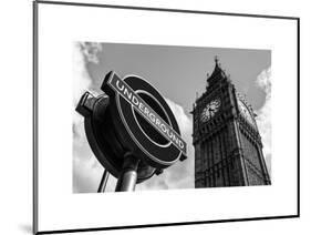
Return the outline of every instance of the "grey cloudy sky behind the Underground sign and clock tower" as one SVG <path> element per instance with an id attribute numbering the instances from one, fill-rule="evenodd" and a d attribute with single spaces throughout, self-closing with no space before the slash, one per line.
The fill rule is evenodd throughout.
<path id="1" fill-rule="evenodd" d="M 215 55 L 258 114 L 257 124 L 270 172 L 271 51 L 76 42 L 73 45 L 73 192 L 96 192 L 103 174 L 103 167 L 86 141 L 83 117 L 74 108 L 84 91 L 102 93 L 100 86 L 111 70 L 122 78 L 136 74 L 149 81 L 165 96 L 188 146 L 186 161 L 137 184 L 136 191 L 194 188 L 193 117 L 189 112 L 196 96 L 205 91 L 207 73 L 211 74 L 215 67 Z M 107 192 L 114 191 L 115 183 L 116 180 L 110 176 Z"/>

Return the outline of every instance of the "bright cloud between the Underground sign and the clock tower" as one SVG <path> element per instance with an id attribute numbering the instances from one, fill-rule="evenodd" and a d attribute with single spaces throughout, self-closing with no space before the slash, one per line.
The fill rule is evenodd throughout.
<path id="1" fill-rule="evenodd" d="M 176 162 L 173 166 L 164 170 L 160 175 L 154 175 L 151 180 L 138 184 L 136 190 L 168 190 L 168 188 L 194 188 L 194 147 L 191 140 L 193 121 L 186 114 L 182 105 L 166 99 L 167 104 L 173 111 L 178 126 L 180 129 L 182 137 L 187 143 L 187 156 L 184 162 Z"/>

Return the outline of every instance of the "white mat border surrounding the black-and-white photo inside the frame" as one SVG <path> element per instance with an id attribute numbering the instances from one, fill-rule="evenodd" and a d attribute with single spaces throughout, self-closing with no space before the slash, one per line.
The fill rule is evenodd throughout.
<path id="1" fill-rule="evenodd" d="M 297 21 L 42 3 L 38 20 L 39 232 L 297 214 Z M 72 194 L 73 41 L 272 50 L 272 185 Z"/>

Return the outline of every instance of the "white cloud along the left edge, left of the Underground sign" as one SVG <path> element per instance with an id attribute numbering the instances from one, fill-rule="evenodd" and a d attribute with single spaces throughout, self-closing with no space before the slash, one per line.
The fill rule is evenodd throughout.
<path id="1" fill-rule="evenodd" d="M 94 156 L 86 141 L 83 116 L 75 112 L 81 95 L 92 85 L 86 70 L 86 63 L 96 63 L 97 52 L 102 50 L 97 43 L 80 43 L 73 45 L 73 192 L 96 192 L 103 173 L 103 167 Z"/>

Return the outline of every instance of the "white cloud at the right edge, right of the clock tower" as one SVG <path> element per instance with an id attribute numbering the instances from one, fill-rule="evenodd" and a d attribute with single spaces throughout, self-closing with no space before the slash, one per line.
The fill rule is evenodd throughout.
<path id="1" fill-rule="evenodd" d="M 257 111 L 257 125 L 263 144 L 263 155 L 269 174 L 271 175 L 271 68 L 263 70 L 256 84 L 266 93 L 263 105 Z"/>

